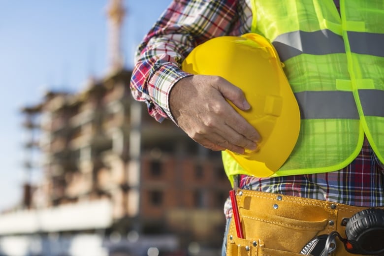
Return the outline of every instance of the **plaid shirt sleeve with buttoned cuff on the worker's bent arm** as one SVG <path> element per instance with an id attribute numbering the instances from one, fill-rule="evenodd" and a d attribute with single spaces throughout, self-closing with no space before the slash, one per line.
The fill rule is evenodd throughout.
<path id="1" fill-rule="evenodd" d="M 157 121 L 173 117 L 170 91 L 180 79 L 184 58 L 198 44 L 233 29 L 235 0 L 174 0 L 144 37 L 135 55 L 130 89 L 135 100 L 145 101 Z M 173 120 L 174 121 L 174 120 Z"/>

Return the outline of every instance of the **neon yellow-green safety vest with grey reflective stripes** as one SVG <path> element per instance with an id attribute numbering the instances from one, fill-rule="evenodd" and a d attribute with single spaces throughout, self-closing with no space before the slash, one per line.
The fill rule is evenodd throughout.
<path id="1" fill-rule="evenodd" d="M 253 0 L 252 32 L 270 39 L 300 106 L 298 141 L 273 176 L 335 171 L 364 134 L 384 162 L 384 1 Z M 278 152 L 278 149 L 277 149 Z M 223 152 L 224 169 L 247 174 Z"/>

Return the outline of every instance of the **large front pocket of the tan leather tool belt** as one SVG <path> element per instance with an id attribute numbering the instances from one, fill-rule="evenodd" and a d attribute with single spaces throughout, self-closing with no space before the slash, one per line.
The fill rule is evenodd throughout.
<path id="1" fill-rule="evenodd" d="M 292 210 L 294 211 L 294 210 Z M 227 256 L 293 256 L 313 237 L 326 230 L 328 220 L 312 221 L 310 216 L 278 216 L 239 209 L 243 235 L 237 237 L 232 220 L 227 236 Z M 309 217 L 309 218 L 307 218 Z"/>

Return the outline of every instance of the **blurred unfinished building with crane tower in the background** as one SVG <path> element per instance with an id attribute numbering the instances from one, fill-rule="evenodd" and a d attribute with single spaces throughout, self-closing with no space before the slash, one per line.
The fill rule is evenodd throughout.
<path id="1" fill-rule="evenodd" d="M 108 74 L 22 109 L 25 150 L 38 152 L 26 154 L 26 173 L 37 160 L 42 178 L 26 175 L 20 207 L 0 215 L 0 255 L 220 255 L 230 188 L 221 154 L 133 100 L 122 2 L 108 13 Z"/>

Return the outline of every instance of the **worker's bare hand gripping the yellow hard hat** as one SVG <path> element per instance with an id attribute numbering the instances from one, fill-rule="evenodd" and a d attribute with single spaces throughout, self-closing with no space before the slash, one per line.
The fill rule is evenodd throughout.
<path id="1" fill-rule="evenodd" d="M 224 78 L 194 75 L 174 85 L 169 104 L 178 126 L 202 146 L 239 154 L 256 150 L 260 135 L 225 99 L 250 108 L 244 93 Z"/>

